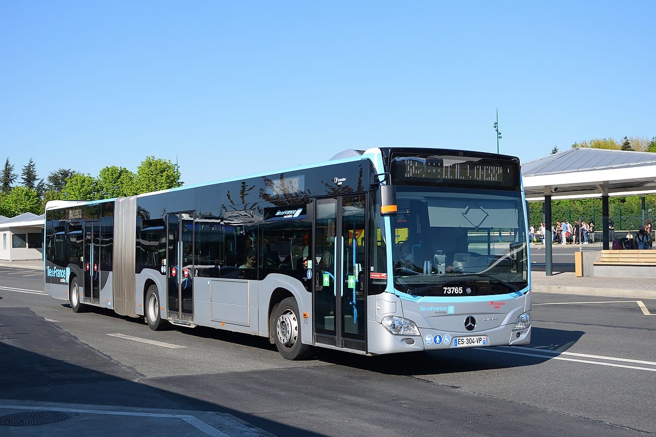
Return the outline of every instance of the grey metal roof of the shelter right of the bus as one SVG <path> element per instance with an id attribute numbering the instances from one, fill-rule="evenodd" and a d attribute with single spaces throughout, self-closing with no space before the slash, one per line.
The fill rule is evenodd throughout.
<path id="1" fill-rule="evenodd" d="M 529 201 L 656 193 L 656 154 L 573 148 L 522 165 Z"/>

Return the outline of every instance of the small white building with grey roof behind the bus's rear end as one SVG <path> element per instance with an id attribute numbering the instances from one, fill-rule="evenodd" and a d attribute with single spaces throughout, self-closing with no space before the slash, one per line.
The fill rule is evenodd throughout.
<path id="1" fill-rule="evenodd" d="M 0 216 L 0 260 L 43 259 L 44 215 Z"/>

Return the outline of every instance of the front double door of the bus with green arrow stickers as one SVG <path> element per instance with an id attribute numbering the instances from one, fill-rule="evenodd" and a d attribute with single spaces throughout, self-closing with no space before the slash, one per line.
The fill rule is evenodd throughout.
<path id="1" fill-rule="evenodd" d="M 366 350 L 366 196 L 315 201 L 314 341 Z"/>

